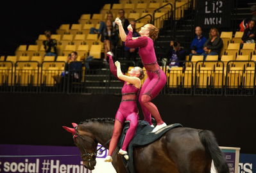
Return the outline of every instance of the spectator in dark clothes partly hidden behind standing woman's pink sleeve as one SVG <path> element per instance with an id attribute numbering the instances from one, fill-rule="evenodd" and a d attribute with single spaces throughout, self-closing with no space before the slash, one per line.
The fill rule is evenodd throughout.
<path id="1" fill-rule="evenodd" d="M 132 21 L 131 22 L 131 26 L 132 26 L 132 29 L 133 29 L 132 36 L 133 37 L 138 37 L 139 33 L 135 30 L 136 29 L 136 22 Z M 126 31 L 126 34 L 128 34 L 128 33 L 129 32 Z M 124 45 L 124 42 L 123 42 L 123 45 Z M 138 48 L 130 48 L 130 47 L 126 47 L 124 45 L 124 57 L 126 57 L 130 61 L 134 61 L 135 62 L 138 50 L 139 50 Z"/>

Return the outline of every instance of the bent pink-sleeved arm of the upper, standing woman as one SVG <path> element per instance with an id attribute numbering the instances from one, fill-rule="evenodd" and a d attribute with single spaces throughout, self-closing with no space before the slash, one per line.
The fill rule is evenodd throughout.
<path id="1" fill-rule="evenodd" d="M 146 36 L 140 36 L 137 39 L 133 40 L 132 31 L 129 31 L 125 40 L 126 47 L 137 48 L 137 47 L 145 47 L 146 45 L 148 45 L 148 38 Z"/>

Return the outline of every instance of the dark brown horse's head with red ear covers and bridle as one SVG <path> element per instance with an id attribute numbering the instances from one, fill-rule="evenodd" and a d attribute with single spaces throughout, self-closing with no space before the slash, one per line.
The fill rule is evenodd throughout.
<path id="1" fill-rule="evenodd" d="M 67 132 L 72 133 L 74 144 L 80 149 L 81 159 L 85 168 L 93 170 L 96 165 L 96 155 L 98 142 L 90 132 L 80 129 L 76 123 L 72 123 L 74 128 L 62 126 Z"/>

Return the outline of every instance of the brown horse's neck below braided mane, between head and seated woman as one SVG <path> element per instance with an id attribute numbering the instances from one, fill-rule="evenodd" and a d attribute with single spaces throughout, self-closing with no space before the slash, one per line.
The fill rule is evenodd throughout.
<path id="1" fill-rule="evenodd" d="M 110 140 L 112 137 L 114 124 L 97 122 L 97 123 L 92 123 L 87 128 L 90 130 L 92 135 L 94 135 L 94 137 L 99 142 L 99 144 L 108 148 L 109 146 L 108 140 Z"/>

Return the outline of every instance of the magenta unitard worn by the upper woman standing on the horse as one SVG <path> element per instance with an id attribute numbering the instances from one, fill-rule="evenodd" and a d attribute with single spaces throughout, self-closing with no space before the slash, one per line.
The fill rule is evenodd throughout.
<path id="1" fill-rule="evenodd" d="M 132 40 L 132 32 L 129 31 L 126 36 L 125 45 L 130 48 L 139 47 L 139 55 L 141 56 L 141 61 L 147 71 L 148 78 L 141 87 L 141 93 L 139 94 L 139 102 L 144 114 L 144 120 L 148 121 L 149 124 L 152 124 L 152 115 L 155 117 L 158 125 L 162 124 L 164 121 L 162 121 L 157 107 L 151 100 L 155 98 L 166 85 L 166 74 L 160 69 L 157 63 L 153 40 L 148 36 L 140 36 L 139 38 Z"/>

